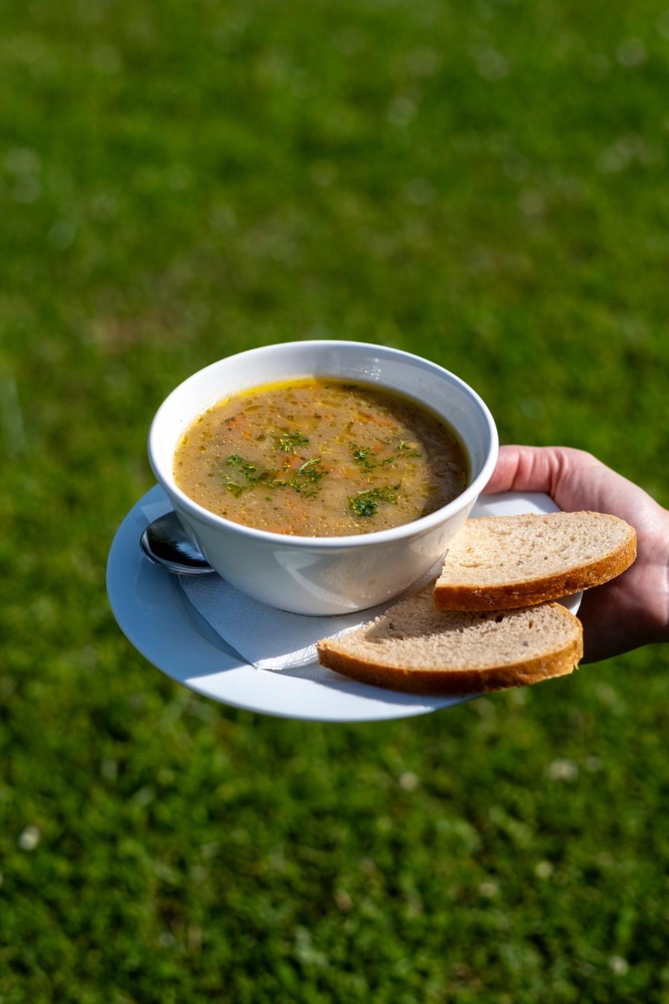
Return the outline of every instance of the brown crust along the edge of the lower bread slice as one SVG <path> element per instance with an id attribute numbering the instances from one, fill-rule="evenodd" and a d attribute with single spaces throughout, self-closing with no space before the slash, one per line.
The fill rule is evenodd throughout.
<path id="1" fill-rule="evenodd" d="M 569 612 L 569 611 L 566 611 Z M 466 694 L 487 694 L 537 684 L 552 677 L 566 676 L 578 668 L 583 658 L 581 621 L 570 614 L 578 625 L 577 635 L 564 649 L 510 666 L 491 666 L 478 670 L 401 670 L 357 659 L 344 652 L 337 642 L 318 642 L 318 661 L 337 673 L 361 683 L 402 691 L 405 694 L 430 694 L 451 697 Z"/>

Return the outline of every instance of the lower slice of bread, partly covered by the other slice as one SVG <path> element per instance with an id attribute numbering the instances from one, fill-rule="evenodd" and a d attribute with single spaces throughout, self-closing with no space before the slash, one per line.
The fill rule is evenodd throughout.
<path id="1" fill-rule="evenodd" d="M 318 642 L 318 660 L 354 680 L 410 694 L 480 694 L 571 673 L 581 621 L 560 603 L 521 610 L 435 610 L 430 584 L 383 616 Z"/>

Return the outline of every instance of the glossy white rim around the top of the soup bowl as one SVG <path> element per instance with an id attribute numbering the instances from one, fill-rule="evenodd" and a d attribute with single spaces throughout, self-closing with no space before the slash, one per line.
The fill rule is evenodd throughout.
<path id="1" fill-rule="evenodd" d="M 448 502 L 445 506 L 440 509 L 436 509 L 434 512 L 429 513 L 427 516 L 420 516 L 418 519 L 411 520 L 409 523 L 401 523 L 399 526 L 393 526 L 386 530 L 371 530 L 369 533 L 351 534 L 343 536 L 330 536 L 330 537 L 302 537 L 296 534 L 290 533 L 274 533 L 272 530 L 261 530 L 258 527 L 246 526 L 244 523 L 236 523 L 234 520 L 226 519 L 225 516 L 219 516 L 217 513 L 211 512 L 211 510 L 206 509 L 201 506 L 199 502 L 196 502 L 189 495 L 179 488 L 174 480 L 174 474 L 170 471 L 170 476 L 166 477 L 164 470 L 157 460 L 157 440 L 160 434 L 160 424 L 162 415 L 167 411 L 169 403 L 174 395 L 182 390 L 185 384 L 190 381 L 195 381 L 198 376 L 204 373 L 208 369 L 213 369 L 215 366 L 220 365 L 221 362 L 228 361 L 231 359 L 240 359 L 242 357 L 248 357 L 251 355 L 261 354 L 267 349 L 277 349 L 277 348 L 288 348 L 292 346 L 300 347 L 311 347 L 318 345 L 323 350 L 327 348 L 331 349 L 346 349 L 346 348 L 365 348 L 368 350 L 376 350 L 385 354 L 387 357 L 400 357 L 405 359 L 412 359 L 413 361 L 420 362 L 424 367 L 431 369 L 433 372 L 445 378 L 446 382 L 457 385 L 465 394 L 472 400 L 473 404 L 477 407 L 483 419 L 484 426 L 488 434 L 488 446 L 485 460 L 481 470 L 476 475 L 476 477 L 470 482 L 469 485 L 464 489 L 460 495 L 457 495 L 451 502 Z M 337 379 L 337 373 L 331 373 L 332 378 Z M 390 392 L 396 391 L 397 388 L 389 387 L 384 384 L 383 380 L 375 382 L 378 383 L 380 388 L 384 388 Z M 403 393 L 400 390 L 400 393 Z M 411 397 L 409 395 L 408 397 Z M 420 402 L 418 402 L 420 404 Z M 207 406 L 209 407 L 209 406 Z M 462 438 L 462 434 L 458 431 L 458 435 Z M 468 446 L 465 443 L 465 447 Z M 469 502 L 474 502 L 476 498 L 480 495 L 482 489 L 485 487 L 487 482 L 490 480 L 490 476 L 494 470 L 495 464 L 497 462 L 497 452 L 499 448 L 499 439 L 497 436 L 497 427 L 495 426 L 494 419 L 490 413 L 489 408 L 483 401 L 483 399 L 473 390 L 465 381 L 455 373 L 451 372 L 450 369 L 446 369 L 444 366 L 439 365 L 438 362 L 432 362 L 430 359 L 426 359 L 422 355 L 417 355 L 414 352 L 407 352 L 402 348 L 394 348 L 390 345 L 379 345 L 373 341 L 345 341 L 338 339 L 320 339 L 311 338 L 303 339 L 298 341 L 285 341 L 285 342 L 272 342 L 269 345 L 258 345 L 256 348 L 248 348 L 242 352 L 233 352 L 231 355 L 222 356 L 220 359 L 216 359 L 214 362 L 210 362 L 208 365 L 203 366 L 201 369 L 197 369 L 194 373 L 191 373 L 186 380 L 182 381 L 180 384 L 174 388 L 173 391 L 165 398 L 165 400 L 160 405 L 158 411 L 156 412 L 154 419 L 151 423 L 151 428 L 149 430 L 149 442 L 148 442 L 148 452 L 149 452 L 149 463 L 151 468 L 158 479 L 159 484 L 170 496 L 171 501 L 174 504 L 174 498 L 177 499 L 179 505 L 186 510 L 186 513 L 193 519 L 198 520 L 201 523 L 208 524 L 216 529 L 222 529 L 228 533 L 236 533 L 240 537 L 246 537 L 247 539 L 254 540 L 256 542 L 264 542 L 268 544 L 282 545 L 283 547 L 296 547 L 296 548 L 318 548 L 319 550 L 334 550 L 341 549 L 342 547 L 365 547 L 374 544 L 384 544 L 392 541 L 400 541 L 405 537 L 415 537 L 422 536 L 423 533 L 428 532 L 434 526 L 438 526 L 440 523 L 445 522 L 449 516 L 460 512 L 462 509 L 466 508 Z M 469 458 L 471 460 L 471 458 Z"/>

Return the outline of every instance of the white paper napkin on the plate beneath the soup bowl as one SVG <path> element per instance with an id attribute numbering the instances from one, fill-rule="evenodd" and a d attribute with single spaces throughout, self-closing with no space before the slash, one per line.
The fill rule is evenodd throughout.
<path id="1" fill-rule="evenodd" d="M 148 522 L 171 509 L 170 503 L 143 506 Z M 317 659 L 315 644 L 339 638 L 385 613 L 397 598 L 371 609 L 311 617 L 277 610 L 235 589 L 220 575 L 179 575 L 179 584 L 215 632 L 259 670 L 291 670 Z M 429 576 L 426 576 L 426 580 Z"/>

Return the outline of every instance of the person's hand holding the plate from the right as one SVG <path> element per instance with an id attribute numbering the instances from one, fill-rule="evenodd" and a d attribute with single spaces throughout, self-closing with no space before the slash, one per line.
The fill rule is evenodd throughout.
<path id="1" fill-rule="evenodd" d="M 583 450 L 503 446 L 485 493 L 546 492 L 567 512 L 620 516 L 637 531 L 637 560 L 584 593 L 584 662 L 669 642 L 669 511 Z"/>

